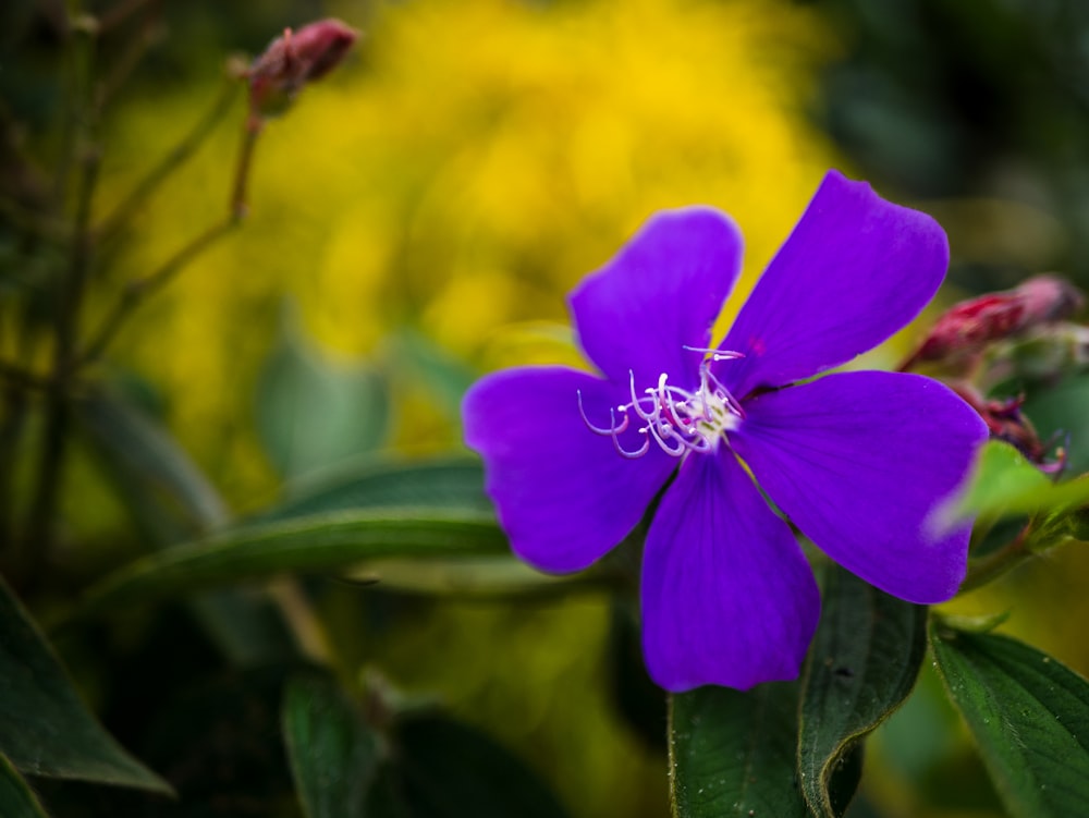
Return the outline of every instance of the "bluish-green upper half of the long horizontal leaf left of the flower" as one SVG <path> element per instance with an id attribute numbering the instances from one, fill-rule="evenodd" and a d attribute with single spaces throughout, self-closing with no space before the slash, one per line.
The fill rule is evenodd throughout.
<path id="1" fill-rule="evenodd" d="M 484 493 L 484 467 L 467 457 L 368 461 L 299 481 L 290 493 L 290 499 L 253 515 L 249 522 L 383 505 L 480 512 L 492 509 Z"/>

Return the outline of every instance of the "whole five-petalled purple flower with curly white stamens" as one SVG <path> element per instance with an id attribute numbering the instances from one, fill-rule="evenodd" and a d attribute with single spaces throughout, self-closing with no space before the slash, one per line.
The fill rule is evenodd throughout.
<path id="1" fill-rule="evenodd" d="M 798 674 L 820 598 L 761 490 L 830 558 L 902 599 L 946 600 L 966 569 L 970 526 L 938 532 L 929 516 L 986 439 L 979 416 L 916 375 L 807 380 L 919 313 L 945 274 L 945 233 L 831 171 L 708 350 L 741 253 L 721 212 L 658 213 L 571 295 L 600 377 L 510 369 L 463 407 L 500 523 L 543 571 L 598 560 L 665 489 L 644 551 L 643 645 L 671 691 Z"/>

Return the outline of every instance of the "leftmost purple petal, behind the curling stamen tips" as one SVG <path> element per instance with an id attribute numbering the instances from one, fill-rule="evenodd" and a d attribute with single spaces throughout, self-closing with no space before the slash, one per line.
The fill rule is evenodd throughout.
<path id="1" fill-rule="evenodd" d="M 658 447 L 621 456 L 611 437 L 587 428 L 578 408 L 608 426 L 627 399 L 608 382 L 563 367 L 509 369 L 465 396 L 465 442 L 485 462 L 485 490 L 515 553 L 544 571 L 586 567 L 619 544 L 676 467 Z M 629 451 L 644 438 L 628 430 Z"/>

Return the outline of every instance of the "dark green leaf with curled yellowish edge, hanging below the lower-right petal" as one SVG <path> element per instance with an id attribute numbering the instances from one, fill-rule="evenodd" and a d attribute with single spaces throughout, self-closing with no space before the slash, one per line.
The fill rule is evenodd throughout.
<path id="1" fill-rule="evenodd" d="M 833 774 L 843 765 L 860 765 L 860 740 L 907 698 L 926 647 L 923 606 L 895 599 L 836 565 L 829 567 L 802 686 L 798 738 L 802 791 L 816 815 L 843 815 L 853 786 L 841 781 L 833 798 Z"/>

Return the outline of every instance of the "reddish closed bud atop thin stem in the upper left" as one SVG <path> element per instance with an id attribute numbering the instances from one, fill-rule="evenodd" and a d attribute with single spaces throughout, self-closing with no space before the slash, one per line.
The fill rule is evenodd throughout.
<path id="1" fill-rule="evenodd" d="M 359 33 L 339 20 L 285 29 L 249 66 L 249 108 L 257 118 L 282 113 L 295 95 L 337 68 Z"/>

